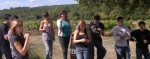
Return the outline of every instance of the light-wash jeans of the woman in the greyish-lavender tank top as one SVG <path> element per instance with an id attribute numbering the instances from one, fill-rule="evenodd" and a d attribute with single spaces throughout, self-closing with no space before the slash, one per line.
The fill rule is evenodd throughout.
<path id="1" fill-rule="evenodd" d="M 53 40 L 43 40 L 45 46 L 46 59 L 52 59 Z"/>

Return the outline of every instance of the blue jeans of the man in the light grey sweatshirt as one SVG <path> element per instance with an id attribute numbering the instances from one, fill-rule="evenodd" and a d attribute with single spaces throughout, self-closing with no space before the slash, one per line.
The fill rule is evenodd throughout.
<path id="1" fill-rule="evenodd" d="M 115 46 L 115 51 L 117 54 L 117 59 L 130 59 L 130 48 Z"/>

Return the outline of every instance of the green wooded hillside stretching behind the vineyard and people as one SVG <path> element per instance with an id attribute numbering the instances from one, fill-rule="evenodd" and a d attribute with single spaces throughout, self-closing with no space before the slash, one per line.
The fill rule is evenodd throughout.
<path id="1" fill-rule="evenodd" d="M 54 6 L 39 6 L 39 7 L 16 7 L 10 9 L 0 10 L 0 19 L 3 18 L 4 14 L 18 15 L 23 20 L 37 20 L 41 19 L 44 12 L 49 12 L 50 19 L 56 20 L 59 17 L 59 13 L 62 10 L 68 12 L 68 18 L 70 20 L 90 20 L 93 16 L 98 14 L 103 20 L 114 20 L 118 16 L 123 16 L 125 20 L 141 20 L 150 18 L 150 10 L 144 13 L 144 11 L 137 8 L 135 13 L 129 14 L 124 11 L 124 9 L 119 9 L 117 7 L 108 7 L 105 5 L 100 6 L 100 8 L 88 8 L 78 4 L 70 5 L 54 5 Z"/>

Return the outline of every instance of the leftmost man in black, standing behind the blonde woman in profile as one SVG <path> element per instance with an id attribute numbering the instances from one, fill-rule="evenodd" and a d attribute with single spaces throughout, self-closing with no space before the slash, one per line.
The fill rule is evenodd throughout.
<path id="1" fill-rule="evenodd" d="M 0 28 L 0 49 L 2 53 L 5 55 L 6 59 L 12 59 L 10 43 L 8 41 L 8 35 L 7 35 L 10 26 L 10 21 L 9 21 L 10 17 L 11 17 L 10 14 L 4 15 L 4 22 Z"/>

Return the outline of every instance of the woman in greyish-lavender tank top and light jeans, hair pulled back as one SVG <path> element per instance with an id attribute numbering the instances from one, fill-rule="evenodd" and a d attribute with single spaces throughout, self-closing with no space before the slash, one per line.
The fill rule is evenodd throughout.
<path id="1" fill-rule="evenodd" d="M 49 19 L 48 12 L 43 15 L 44 20 L 41 21 L 39 30 L 42 31 L 42 39 L 45 46 L 46 59 L 52 59 L 53 41 L 55 33 L 53 22 Z"/>

